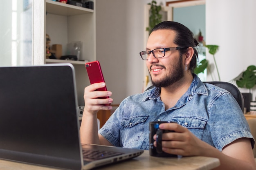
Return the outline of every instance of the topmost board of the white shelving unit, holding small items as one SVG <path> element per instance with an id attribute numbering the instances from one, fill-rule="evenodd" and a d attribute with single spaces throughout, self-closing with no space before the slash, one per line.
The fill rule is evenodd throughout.
<path id="1" fill-rule="evenodd" d="M 46 12 L 56 15 L 72 16 L 80 15 L 85 13 L 93 13 L 93 9 L 77 7 L 71 4 L 64 4 L 61 2 L 56 2 L 52 0 L 45 0 L 46 2 Z"/>

